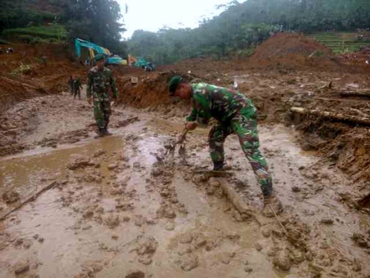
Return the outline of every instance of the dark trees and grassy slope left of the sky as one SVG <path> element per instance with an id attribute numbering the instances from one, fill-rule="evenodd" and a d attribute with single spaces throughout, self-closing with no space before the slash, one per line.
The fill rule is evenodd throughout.
<path id="1" fill-rule="evenodd" d="M 125 50 L 119 3 L 114 0 L 3 0 L 0 33 L 29 43 L 90 40 L 115 53 Z"/>

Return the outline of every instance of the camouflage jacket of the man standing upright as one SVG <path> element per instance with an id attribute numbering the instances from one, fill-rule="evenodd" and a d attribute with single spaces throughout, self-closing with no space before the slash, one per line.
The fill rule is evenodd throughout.
<path id="1" fill-rule="evenodd" d="M 87 97 L 93 95 L 95 101 L 110 101 L 109 89 L 112 89 L 113 97 L 118 97 L 116 82 L 112 78 L 112 71 L 107 67 L 98 69 L 93 67 L 88 71 Z"/>

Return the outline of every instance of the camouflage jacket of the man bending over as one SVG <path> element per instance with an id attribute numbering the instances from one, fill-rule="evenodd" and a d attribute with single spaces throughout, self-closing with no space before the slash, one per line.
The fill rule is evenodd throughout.
<path id="1" fill-rule="evenodd" d="M 193 107 L 186 121 L 197 121 L 199 124 L 206 125 L 213 117 L 227 124 L 240 108 L 249 108 L 247 109 L 250 112 L 249 116 L 256 117 L 256 107 L 241 93 L 206 83 L 195 83 L 192 87 Z"/>

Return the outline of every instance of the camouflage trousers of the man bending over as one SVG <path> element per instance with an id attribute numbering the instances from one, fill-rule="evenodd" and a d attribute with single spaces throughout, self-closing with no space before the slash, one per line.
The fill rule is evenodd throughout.
<path id="1" fill-rule="evenodd" d="M 248 116 L 247 116 L 248 115 Z M 260 183 L 264 196 L 273 193 L 272 178 L 269 174 L 267 161 L 261 154 L 260 139 L 258 138 L 256 117 L 251 117 L 247 108 L 241 108 L 228 124 L 217 124 L 212 127 L 209 134 L 210 156 L 214 163 L 223 162 L 223 142 L 230 134 L 236 134 L 245 157 L 251 163 L 254 174 Z"/>

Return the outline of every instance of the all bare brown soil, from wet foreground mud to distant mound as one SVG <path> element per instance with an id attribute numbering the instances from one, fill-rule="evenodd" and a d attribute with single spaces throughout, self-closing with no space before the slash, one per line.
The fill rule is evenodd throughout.
<path id="1" fill-rule="evenodd" d="M 299 58 L 314 51 L 328 58 Z M 330 51 L 296 34 L 277 34 L 250 60 L 186 60 L 155 73 L 112 67 L 120 92 L 113 136 L 93 139 L 84 90 L 82 100 L 66 92 L 69 75 L 87 68 L 64 54 L 36 65 L 18 51 L 1 71 L 43 89 L 1 87 L 10 98 L 0 116 L 0 217 L 14 210 L 0 222 L 1 277 L 370 277 L 369 126 L 291 112 L 366 118 L 369 99 L 345 93 L 369 91 L 367 68 L 349 62 L 333 71 Z M 34 68 L 9 76 L 20 62 Z M 163 160 L 189 110 L 168 97 L 175 73 L 236 81 L 256 104 L 261 150 L 284 205 L 278 218 L 261 215 L 261 191 L 236 137 L 225 142 L 230 174 L 222 178 L 204 172 L 206 129 Z M 232 205 L 223 182 L 251 216 Z"/>

